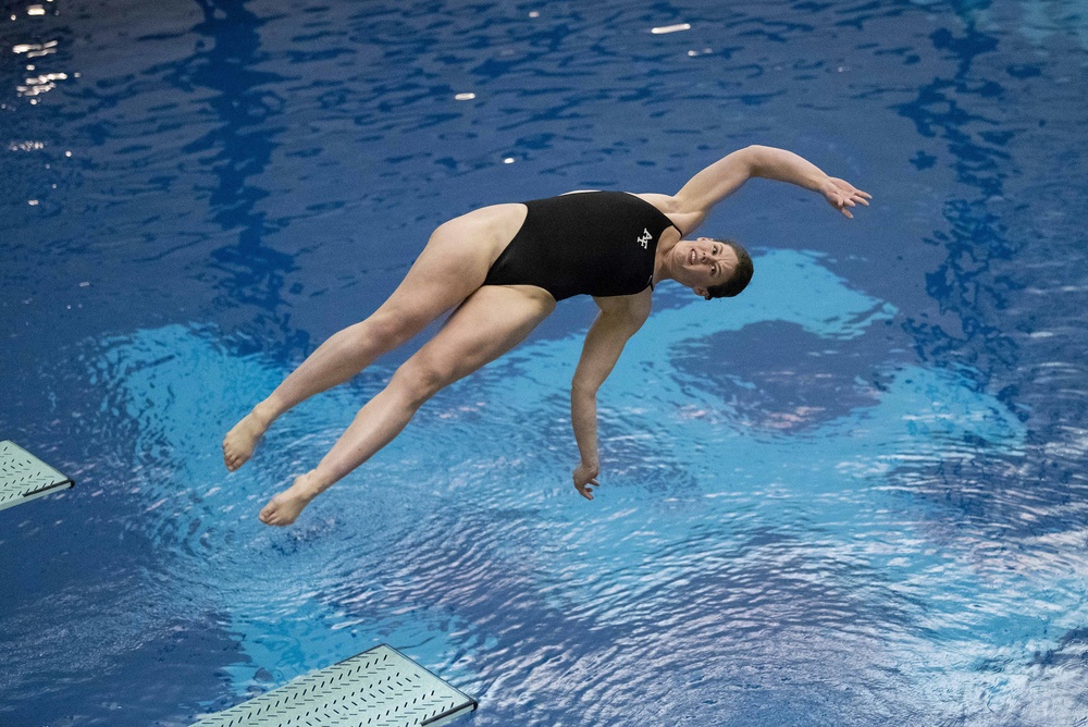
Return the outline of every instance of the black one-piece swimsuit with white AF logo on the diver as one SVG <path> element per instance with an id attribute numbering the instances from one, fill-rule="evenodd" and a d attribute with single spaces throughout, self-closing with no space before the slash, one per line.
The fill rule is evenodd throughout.
<path id="1" fill-rule="evenodd" d="M 521 230 L 484 285 L 536 285 L 556 300 L 639 293 L 653 282 L 657 241 L 676 227 L 656 207 L 626 192 L 580 192 L 526 207 Z"/>

